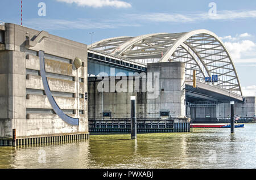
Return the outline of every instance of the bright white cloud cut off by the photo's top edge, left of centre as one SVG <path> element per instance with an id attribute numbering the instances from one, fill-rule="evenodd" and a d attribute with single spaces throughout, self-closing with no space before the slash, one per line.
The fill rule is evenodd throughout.
<path id="1" fill-rule="evenodd" d="M 128 8 L 131 7 L 130 3 L 119 0 L 56 0 L 59 2 L 76 3 L 78 6 L 89 6 L 89 7 L 104 7 L 111 6 L 117 8 Z"/>

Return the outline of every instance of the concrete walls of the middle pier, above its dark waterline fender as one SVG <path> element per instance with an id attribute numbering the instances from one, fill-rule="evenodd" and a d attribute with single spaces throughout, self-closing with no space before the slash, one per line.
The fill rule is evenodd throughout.
<path id="1" fill-rule="evenodd" d="M 117 85 L 119 82 L 110 80 L 109 92 L 103 93 L 104 112 L 111 112 L 111 118 L 130 118 L 130 96 L 136 96 L 137 117 L 160 118 L 161 111 L 169 112 L 171 117 L 185 117 L 184 63 L 150 63 L 148 72 L 158 76 L 155 77 L 158 82 L 155 78 L 150 80 L 147 77 L 147 83 L 152 84 L 153 88 L 157 87 L 154 93 L 142 92 L 143 85 L 140 85 L 139 92 L 135 92 L 135 79 L 132 84 L 128 80 L 123 84 L 126 92 L 110 92 L 110 84 Z M 95 79 L 88 82 L 88 113 L 90 119 L 102 119 L 102 93 L 97 89 L 100 81 Z M 144 84 L 143 82 L 141 79 L 140 84 Z M 156 95 L 155 98 L 152 98 L 153 94 Z"/>

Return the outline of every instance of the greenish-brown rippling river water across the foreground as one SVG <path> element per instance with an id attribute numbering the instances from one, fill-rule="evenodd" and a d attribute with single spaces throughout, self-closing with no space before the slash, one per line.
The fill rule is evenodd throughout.
<path id="1" fill-rule="evenodd" d="M 0 147 L 0 168 L 256 168 L 256 123 L 193 131 Z"/>

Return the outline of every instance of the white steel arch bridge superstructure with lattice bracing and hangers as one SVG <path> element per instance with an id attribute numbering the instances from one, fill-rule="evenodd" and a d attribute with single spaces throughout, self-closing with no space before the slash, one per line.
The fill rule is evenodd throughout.
<path id="1" fill-rule="evenodd" d="M 220 38 L 205 29 L 183 33 L 154 33 L 138 37 L 114 37 L 95 42 L 89 50 L 100 50 L 144 63 L 184 62 L 185 76 L 197 80 L 218 75 L 217 87 L 242 96 L 236 68 Z"/>

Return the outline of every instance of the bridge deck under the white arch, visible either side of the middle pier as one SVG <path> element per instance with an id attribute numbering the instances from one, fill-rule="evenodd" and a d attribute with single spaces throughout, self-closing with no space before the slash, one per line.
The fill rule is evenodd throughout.
<path id="1" fill-rule="evenodd" d="M 97 50 L 88 50 L 88 62 L 99 62 L 105 64 L 105 66 L 113 66 L 120 68 L 120 71 L 127 72 L 146 72 L 147 65 L 141 62 L 137 62 L 135 60 L 115 56 L 113 54 L 108 54 L 106 52 L 99 52 Z M 95 70 L 97 72 L 94 75 L 98 75 L 98 71 L 101 71 L 101 68 Z M 110 68 L 107 73 L 110 72 Z M 116 71 L 116 73 L 119 71 Z M 110 75 L 110 74 L 109 74 Z M 192 88 L 192 80 L 186 78 L 186 96 L 192 97 L 194 99 L 205 99 L 210 101 L 221 101 L 221 102 L 229 102 L 229 101 L 243 101 L 243 97 L 233 93 L 232 91 L 228 91 L 228 89 L 223 89 L 217 87 L 217 85 L 205 83 L 205 82 L 197 82 L 197 88 Z M 189 88 L 188 88 L 189 87 Z"/>

